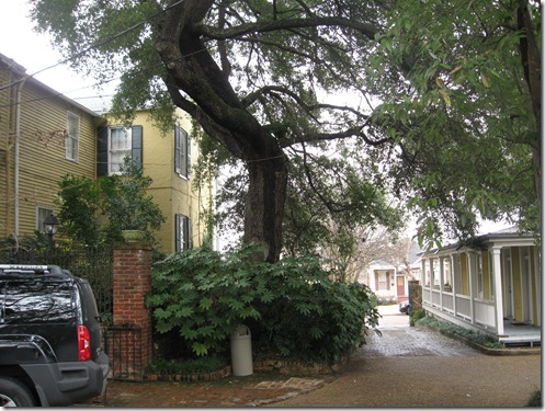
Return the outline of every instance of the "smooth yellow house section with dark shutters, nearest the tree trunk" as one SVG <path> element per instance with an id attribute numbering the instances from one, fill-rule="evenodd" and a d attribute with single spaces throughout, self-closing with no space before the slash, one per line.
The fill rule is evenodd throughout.
<path id="1" fill-rule="evenodd" d="M 192 163 L 198 149 L 191 137 L 191 121 L 177 112 L 178 124 L 163 135 L 149 114 L 138 111 L 130 126 L 109 118 L 107 125 L 99 129 L 98 176 L 118 172 L 127 156 L 137 160 L 154 180 L 148 192 L 166 217 L 155 233 L 160 251 L 170 253 L 201 246 L 206 233 L 204 216 L 213 206 L 214 181 L 193 186 Z"/>

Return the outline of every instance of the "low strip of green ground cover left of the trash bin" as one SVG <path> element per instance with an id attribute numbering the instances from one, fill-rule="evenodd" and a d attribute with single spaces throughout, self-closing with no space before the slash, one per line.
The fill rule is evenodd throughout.
<path id="1" fill-rule="evenodd" d="M 190 359 L 161 359 L 151 361 L 147 366 L 148 374 L 157 375 L 190 375 L 217 372 L 229 365 L 226 358 L 205 356 Z"/>

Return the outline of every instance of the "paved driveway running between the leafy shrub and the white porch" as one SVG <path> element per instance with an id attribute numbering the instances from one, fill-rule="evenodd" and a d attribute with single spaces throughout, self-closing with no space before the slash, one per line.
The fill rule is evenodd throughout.
<path id="1" fill-rule="evenodd" d="M 491 356 L 381 307 L 383 336 L 329 385 L 268 407 L 522 407 L 541 389 L 541 355 Z"/>

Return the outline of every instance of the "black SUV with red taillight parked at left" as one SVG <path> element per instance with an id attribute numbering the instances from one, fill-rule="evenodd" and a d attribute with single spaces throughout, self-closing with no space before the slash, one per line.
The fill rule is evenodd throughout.
<path id="1" fill-rule="evenodd" d="M 101 350 L 91 286 L 58 265 L 0 264 L 0 406 L 58 407 L 100 396 Z"/>

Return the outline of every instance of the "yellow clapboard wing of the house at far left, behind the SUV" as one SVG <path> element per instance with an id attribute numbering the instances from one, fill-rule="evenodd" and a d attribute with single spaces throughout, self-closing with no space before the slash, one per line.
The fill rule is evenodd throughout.
<path id="1" fill-rule="evenodd" d="M 43 232 L 61 176 L 94 178 L 104 121 L 0 54 L 0 236 Z"/>

